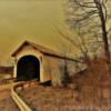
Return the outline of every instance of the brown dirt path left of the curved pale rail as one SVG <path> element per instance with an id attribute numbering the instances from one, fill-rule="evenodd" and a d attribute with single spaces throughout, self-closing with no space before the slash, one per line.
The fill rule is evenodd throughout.
<path id="1" fill-rule="evenodd" d="M 11 98 L 11 85 L 0 85 L 0 111 L 20 111 Z"/>

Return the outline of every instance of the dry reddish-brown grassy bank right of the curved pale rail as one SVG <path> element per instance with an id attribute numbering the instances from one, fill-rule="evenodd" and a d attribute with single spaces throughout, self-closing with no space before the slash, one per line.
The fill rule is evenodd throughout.
<path id="1" fill-rule="evenodd" d="M 36 111 L 111 111 L 111 77 L 103 60 L 93 60 L 73 79 L 73 89 L 36 85 L 20 95 Z"/>

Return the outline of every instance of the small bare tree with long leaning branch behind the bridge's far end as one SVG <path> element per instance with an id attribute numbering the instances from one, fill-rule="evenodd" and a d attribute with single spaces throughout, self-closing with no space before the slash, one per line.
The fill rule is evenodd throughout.
<path id="1" fill-rule="evenodd" d="M 57 29 L 59 34 L 62 36 L 63 39 L 67 39 L 71 44 L 73 44 L 78 50 L 80 50 L 80 52 L 83 56 L 83 62 L 89 65 L 90 63 L 89 53 L 95 52 L 101 46 L 101 42 L 94 42 L 94 46 L 93 44 L 91 46 L 87 43 L 88 39 L 83 38 L 81 33 L 78 33 L 78 40 L 77 40 L 75 37 L 74 38 L 72 38 L 72 36 L 70 37 L 68 33 L 62 32 L 58 27 L 54 26 L 54 28 Z"/>

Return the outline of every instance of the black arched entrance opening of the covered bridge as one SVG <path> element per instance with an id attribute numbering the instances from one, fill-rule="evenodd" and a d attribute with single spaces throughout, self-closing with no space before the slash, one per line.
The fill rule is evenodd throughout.
<path id="1" fill-rule="evenodd" d="M 17 80 L 40 80 L 40 61 L 34 56 L 24 56 L 18 61 Z"/>

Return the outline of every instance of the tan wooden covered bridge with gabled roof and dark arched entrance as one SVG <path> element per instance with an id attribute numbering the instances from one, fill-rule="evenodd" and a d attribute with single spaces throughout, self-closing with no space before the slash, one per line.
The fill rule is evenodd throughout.
<path id="1" fill-rule="evenodd" d="M 18 80 L 38 79 L 40 82 L 51 81 L 61 84 L 63 65 L 67 61 L 70 75 L 78 72 L 83 64 L 78 60 L 64 57 L 46 47 L 24 41 L 13 53 L 13 78 Z"/>

